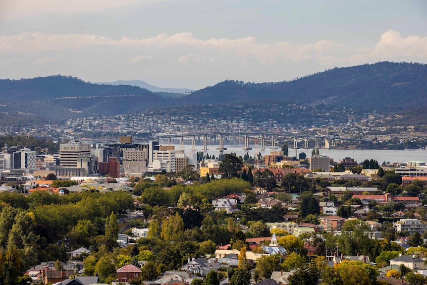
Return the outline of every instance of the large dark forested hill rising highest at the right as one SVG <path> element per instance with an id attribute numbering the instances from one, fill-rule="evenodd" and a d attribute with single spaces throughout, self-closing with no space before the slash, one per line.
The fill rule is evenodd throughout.
<path id="1" fill-rule="evenodd" d="M 405 110 L 427 103 L 427 64 L 378 62 L 277 83 L 224 81 L 193 92 L 193 104 L 276 99 L 296 104 L 354 108 L 361 112 Z"/>

